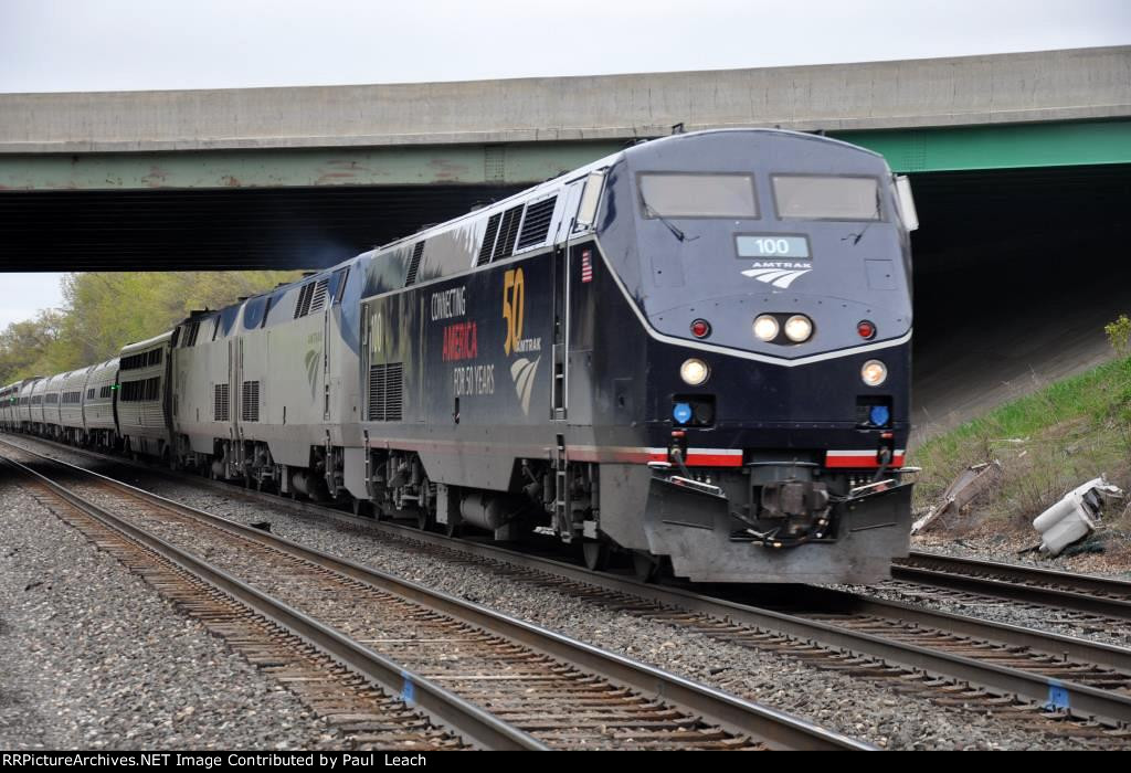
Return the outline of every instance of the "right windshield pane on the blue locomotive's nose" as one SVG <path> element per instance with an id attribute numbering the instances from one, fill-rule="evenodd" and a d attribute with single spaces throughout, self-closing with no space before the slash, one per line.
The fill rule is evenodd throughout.
<path id="1" fill-rule="evenodd" d="M 875 177 L 775 174 L 778 217 L 797 220 L 879 220 L 880 183 Z"/>

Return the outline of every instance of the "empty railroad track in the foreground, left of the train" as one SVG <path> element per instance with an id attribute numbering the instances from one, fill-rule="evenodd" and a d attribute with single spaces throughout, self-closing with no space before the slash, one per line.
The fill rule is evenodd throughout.
<path id="1" fill-rule="evenodd" d="M 8 463 L 37 476 L 34 485 L 50 488 L 69 511 L 97 521 L 93 538 L 115 555 L 129 555 L 128 565 L 140 567 L 138 556 L 148 550 L 214 585 L 208 601 L 184 606 L 207 616 L 211 605 L 234 596 L 270 620 L 273 641 L 291 636 L 308 655 L 313 645 L 318 657 L 345 667 L 339 676 L 362 692 L 377 692 L 368 683 L 379 685 L 386 707 L 395 705 L 398 718 L 412 716 L 414 728 L 429 728 L 441 747 L 871 748 L 478 605 L 10 449 Z M 40 471 L 11 457 L 33 458 Z M 78 520 L 72 512 L 67 518 Z M 158 589 L 169 587 L 156 570 L 138 571 L 156 576 Z M 254 577 L 253 585 L 238 574 Z M 248 613 L 225 610 L 217 631 L 240 614 Z M 250 628 L 231 632 L 230 641 L 247 644 L 254 662 L 304 678 Z M 389 704 L 389 695 L 400 701 Z M 346 721 L 385 721 L 377 706 L 363 712 L 338 705 L 334 712 L 345 712 Z"/>

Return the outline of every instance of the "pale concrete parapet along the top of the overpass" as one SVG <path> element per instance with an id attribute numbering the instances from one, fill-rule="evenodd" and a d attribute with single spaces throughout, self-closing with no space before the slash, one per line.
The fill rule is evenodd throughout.
<path id="1" fill-rule="evenodd" d="M 624 141 L 1131 115 L 1131 46 L 701 72 L 0 95 L 0 154 Z"/>

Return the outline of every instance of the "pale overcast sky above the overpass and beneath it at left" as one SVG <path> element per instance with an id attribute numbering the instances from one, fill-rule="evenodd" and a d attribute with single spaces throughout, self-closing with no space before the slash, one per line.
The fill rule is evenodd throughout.
<path id="1" fill-rule="evenodd" d="M 826 64 L 1131 43 L 1131 0 L 0 0 L 0 93 Z M 59 275 L 0 275 L 0 327 Z"/>

